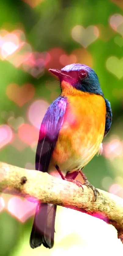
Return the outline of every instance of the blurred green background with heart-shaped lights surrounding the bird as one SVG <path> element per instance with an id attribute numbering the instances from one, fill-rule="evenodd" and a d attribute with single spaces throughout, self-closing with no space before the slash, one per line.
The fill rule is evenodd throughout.
<path id="1" fill-rule="evenodd" d="M 60 93 L 48 69 L 84 63 L 113 111 L 103 154 L 84 172 L 97 188 L 123 197 L 123 2 L 0 1 L 0 14 L 0 161 L 34 169 L 39 126 Z M 29 247 L 34 207 L 13 198 L 1 195 L 0 256 L 38 255 L 42 247 Z"/>

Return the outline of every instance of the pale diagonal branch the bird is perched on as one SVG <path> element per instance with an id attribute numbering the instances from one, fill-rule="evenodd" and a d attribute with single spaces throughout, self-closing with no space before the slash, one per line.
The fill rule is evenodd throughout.
<path id="1" fill-rule="evenodd" d="M 33 201 L 53 203 L 96 216 L 112 224 L 123 242 L 123 199 L 99 190 L 94 202 L 90 188 L 64 181 L 36 170 L 27 170 L 0 162 L 0 192 L 19 195 Z"/>

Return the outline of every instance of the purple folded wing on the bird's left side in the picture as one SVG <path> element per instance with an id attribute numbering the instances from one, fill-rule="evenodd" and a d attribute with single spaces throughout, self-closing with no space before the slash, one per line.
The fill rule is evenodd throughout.
<path id="1" fill-rule="evenodd" d="M 63 117 L 66 110 L 67 98 L 59 96 L 49 106 L 42 120 L 39 140 L 36 150 L 36 170 L 47 172 L 52 152 L 56 146 Z"/>

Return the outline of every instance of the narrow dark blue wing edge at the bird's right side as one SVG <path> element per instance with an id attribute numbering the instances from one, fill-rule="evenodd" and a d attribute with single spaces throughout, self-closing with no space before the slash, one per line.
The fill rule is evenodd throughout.
<path id="1" fill-rule="evenodd" d="M 104 99 L 106 103 L 106 124 L 105 124 L 105 132 L 104 137 L 107 135 L 107 133 L 110 130 L 111 123 L 112 123 L 112 110 L 110 106 L 110 102 L 107 99 Z"/>

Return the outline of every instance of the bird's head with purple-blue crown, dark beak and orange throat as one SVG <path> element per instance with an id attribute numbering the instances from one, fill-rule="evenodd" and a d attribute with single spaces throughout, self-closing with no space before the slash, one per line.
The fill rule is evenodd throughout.
<path id="1" fill-rule="evenodd" d="M 61 82 L 61 90 L 70 92 L 81 91 L 103 96 L 98 76 L 95 71 L 85 64 L 70 64 L 59 69 L 49 69 Z M 75 93 L 77 93 L 77 91 Z"/>

